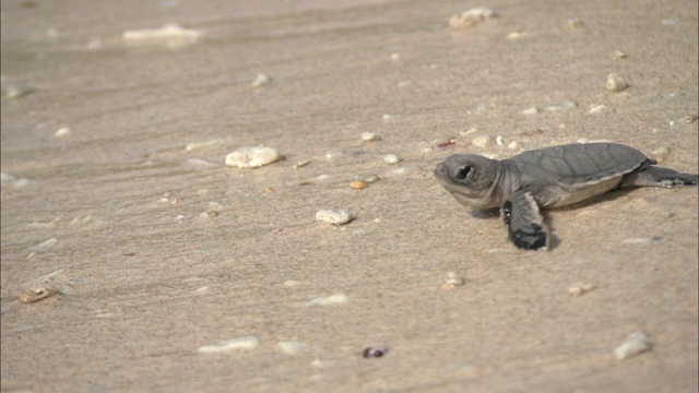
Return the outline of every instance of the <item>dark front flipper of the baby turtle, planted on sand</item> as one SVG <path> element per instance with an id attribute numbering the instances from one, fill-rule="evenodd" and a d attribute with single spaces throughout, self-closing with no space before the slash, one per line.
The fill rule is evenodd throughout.
<path id="1" fill-rule="evenodd" d="M 525 250 L 536 250 L 548 245 L 548 227 L 544 224 L 532 191 L 523 189 L 512 193 L 500 210 L 510 240 Z"/>

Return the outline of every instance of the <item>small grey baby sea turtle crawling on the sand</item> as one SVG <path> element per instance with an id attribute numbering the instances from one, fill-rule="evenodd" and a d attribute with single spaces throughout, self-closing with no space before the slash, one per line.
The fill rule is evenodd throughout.
<path id="1" fill-rule="evenodd" d="M 697 186 L 699 176 L 653 167 L 656 160 L 616 143 L 568 144 L 490 159 L 454 154 L 435 168 L 437 181 L 461 204 L 500 207 L 510 240 L 535 250 L 548 245 L 540 209 L 556 209 L 621 186 Z"/>

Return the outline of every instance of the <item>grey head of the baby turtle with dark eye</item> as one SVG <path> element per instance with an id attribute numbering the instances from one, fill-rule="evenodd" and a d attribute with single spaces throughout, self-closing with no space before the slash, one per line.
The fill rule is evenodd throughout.
<path id="1" fill-rule="evenodd" d="M 435 177 L 461 204 L 476 210 L 499 207 L 499 163 L 476 154 L 454 154 L 437 164 Z"/>

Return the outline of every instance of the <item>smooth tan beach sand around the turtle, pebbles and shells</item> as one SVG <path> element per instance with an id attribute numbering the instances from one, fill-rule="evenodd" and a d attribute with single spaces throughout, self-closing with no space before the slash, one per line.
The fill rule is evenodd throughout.
<path id="1" fill-rule="evenodd" d="M 498 17 L 448 27 L 484 5 Z M 497 214 L 472 214 L 431 174 L 459 152 L 580 139 L 696 172 L 697 121 L 684 121 L 698 111 L 696 2 L 1 11 L 3 88 L 34 88 L 1 103 L 2 172 L 27 179 L 2 184 L 3 392 L 696 390 L 696 188 L 550 212 L 553 249 L 525 252 Z M 167 23 L 203 35 L 174 47 L 121 38 Z M 630 86 L 607 92 L 613 72 Z M 260 73 L 271 82 L 252 87 Z M 567 102 L 577 107 L 544 110 Z M 531 107 L 541 111 L 522 114 Z M 70 134 L 54 136 L 61 127 Z M 381 141 L 363 142 L 366 131 Z M 471 145 L 478 135 L 520 147 Z M 258 144 L 285 159 L 224 166 Z M 389 153 L 402 162 L 387 165 Z M 380 180 L 348 188 L 366 172 Z M 355 219 L 316 222 L 340 207 Z M 19 301 L 61 270 L 62 295 Z M 445 289 L 449 272 L 465 284 Z M 595 288 L 572 297 L 576 283 Z M 346 302 L 308 305 L 335 294 Z M 617 360 L 639 330 L 652 349 Z M 250 335 L 254 348 L 198 350 Z M 298 353 L 280 350 L 288 341 Z M 370 346 L 389 352 L 364 358 Z"/>

